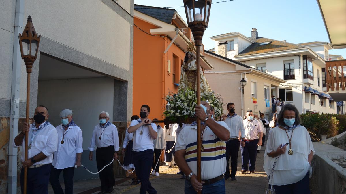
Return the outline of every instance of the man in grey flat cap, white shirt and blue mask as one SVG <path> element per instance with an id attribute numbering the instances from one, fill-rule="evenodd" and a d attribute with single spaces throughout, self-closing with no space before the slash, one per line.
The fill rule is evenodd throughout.
<path id="1" fill-rule="evenodd" d="M 81 128 L 72 120 L 72 110 L 64 109 L 59 116 L 61 125 L 56 127 L 58 145 L 57 151 L 54 152 L 49 182 L 55 194 L 72 194 L 74 165 L 81 165 L 83 135 Z M 59 182 L 61 171 L 64 173 L 65 192 Z"/>

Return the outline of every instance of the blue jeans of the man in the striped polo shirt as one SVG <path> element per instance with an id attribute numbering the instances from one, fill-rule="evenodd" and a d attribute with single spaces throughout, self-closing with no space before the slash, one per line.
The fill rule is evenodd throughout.
<path id="1" fill-rule="evenodd" d="M 191 182 L 185 179 L 185 194 L 195 194 L 197 193 Z M 203 185 L 202 188 L 202 194 L 221 194 L 226 193 L 226 187 L 225 187 L 225 179 L 222 179 L 216 183 L 209 184 L 209 185 Z"/>

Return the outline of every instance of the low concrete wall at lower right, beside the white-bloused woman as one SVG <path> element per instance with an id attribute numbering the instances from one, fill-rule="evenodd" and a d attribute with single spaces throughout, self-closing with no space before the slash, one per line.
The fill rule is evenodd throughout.
<path id="1" fill-rule="evenodd" d="M 319 142 L 313 142 L 313 147 L 316 154 L 311 163 L 311 194 L 345 194 L 346 168 L 337 163 L 346 165 L 346 151 Z"/>

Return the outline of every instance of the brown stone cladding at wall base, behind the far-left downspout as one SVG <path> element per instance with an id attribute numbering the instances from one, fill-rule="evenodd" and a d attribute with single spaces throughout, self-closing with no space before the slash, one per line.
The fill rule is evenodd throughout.
<path id="1" fill-rule="evenodd" d="M 8 152 L 9 146 L 12 146 L 12 142 L 9 142 L 10 138 L 10 117 L 0 117 L 1 125 L 0 125 L 0 193 L 6 191 L 8 192 Z M 21 128 L 23 123 L 25 122 L 25 118 L 19 118 L 19 126 L 18 133 L 21 132 Z M 32 122 L 32 119 L 31 121 Z M 20 192 L 20 169 L 21 169 L 21 161 L 20 156 L 22 152 L 20 147 L 18 148 L 17 155 L 17 192 Z"/>

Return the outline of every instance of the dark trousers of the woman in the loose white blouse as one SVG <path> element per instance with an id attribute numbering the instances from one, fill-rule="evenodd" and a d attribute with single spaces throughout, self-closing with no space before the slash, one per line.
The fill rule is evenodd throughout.
<path id="1" fill-rule="evenodd" d="M 309 172 L 297 183 L 276 186 L 273 185 L 276 194 L 310 194 Z"/>

